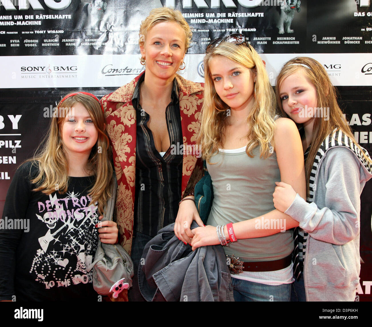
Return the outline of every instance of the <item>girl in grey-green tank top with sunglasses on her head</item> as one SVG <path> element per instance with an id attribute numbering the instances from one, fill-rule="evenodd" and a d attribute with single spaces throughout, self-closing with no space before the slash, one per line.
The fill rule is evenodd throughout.
<path id="1" fill-rule="evenodd" d="M 264 63 L 244 35 L 212 41 L 204 71 L 199 142 L 214 199 L 208 226 L 195 228 L 190 235 L 183 228 L 190 221 L 180 219 L 176 234 L 193 250 L 226 245 L 235 301 L 289 301 L 293 282 L 289 229 L 297 223 L 274 208 L 272 193 L 276 181 L 285 181 L 305 196 L 299 133 L 291 120 L 276 119 L 275 95 Z M 195 204 L 187 202 L 198 222 Z"/>

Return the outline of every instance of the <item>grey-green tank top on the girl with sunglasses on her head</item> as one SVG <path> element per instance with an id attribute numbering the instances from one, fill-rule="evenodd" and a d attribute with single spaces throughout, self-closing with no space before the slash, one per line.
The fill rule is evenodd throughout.
<path id="1" fill-rule="evenodd" d="M 239 153 L 218 152 L 207 164 L 212 178 L 214 199 L 208 225 L 217 226 L 259 217 L 257 228 L 268 224 L 280 226 L 261 217 L 275 209 L 273 192 L 275 182 L 280 181 L 280 171 L 274 152 L 267 159 L 260 159 L 260 147 L 253 150 L 250 158 L 245 150 Z M 265 217 L 264 217 L 265 218 Z M 235 254 L 243 261 L 271 261 L 289 255 L 293 250 L 292 231 L 275 235 L 239 239 L 224 247 L 228 255 Z"/>

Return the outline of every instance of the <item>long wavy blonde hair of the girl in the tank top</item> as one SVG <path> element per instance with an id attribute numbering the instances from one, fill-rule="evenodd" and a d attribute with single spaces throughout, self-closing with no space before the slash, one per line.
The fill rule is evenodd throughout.
<path id="1" fill-rule="evenodd" d="M 204 58 L 205 88 L 201 114 L 201 130 L 198 141 L 201 144 L 203 158 L 208 162 L 222 145 L 222 137 L 227 125 L 227 109 L 230 109 L 218 96 L 214 87 L 209 65 L 212 58 L 223 56 L 256 73 L 255 101 L 248 117 L 250 131 L 247 135 L 246 153 L 253 157 L 252 151 L 260 146 L 260 158 L 270 155 L 270 145 L 275 133 L 275 95 L 270 85 L 265 66 L 256 50 L 251 45 L 236 45 L 221 42 Z M 271 143 L 270 143 L 271 142 Z"/>

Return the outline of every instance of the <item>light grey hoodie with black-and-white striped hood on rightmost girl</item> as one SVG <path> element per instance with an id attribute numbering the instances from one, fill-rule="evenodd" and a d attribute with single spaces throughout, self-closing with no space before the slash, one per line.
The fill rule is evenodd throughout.
<path id="1" fill-rule="evenodd" d="M 307 301 L 354 301 L 359 283 L 360 194 L 371 164 L 337 131 L 315 157 L 308 202 L 298 194 L 285 213 L 309 234 L 304 258 Z M 315 174 L 315 175 L 314 175 Z"/>

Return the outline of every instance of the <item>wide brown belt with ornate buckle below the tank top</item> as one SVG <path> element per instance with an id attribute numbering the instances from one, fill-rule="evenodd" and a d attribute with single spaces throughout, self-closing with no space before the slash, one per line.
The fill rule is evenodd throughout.
<path id="1" fill-rule="evenodd" d="M 230 260 L 228 267 L 232 274 L 240 274 L 241 272 L 272 272 L 288 267 L 292 262 L 292 254 L 285 258 L 272 261 L 253 261 L 243 262 L 240 258 L 234 255 L 227 256 Z"/>

